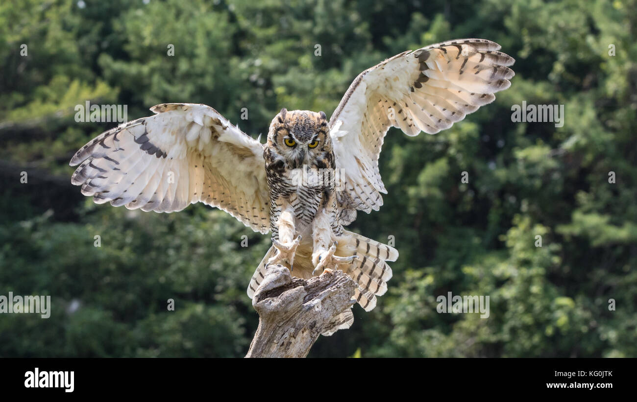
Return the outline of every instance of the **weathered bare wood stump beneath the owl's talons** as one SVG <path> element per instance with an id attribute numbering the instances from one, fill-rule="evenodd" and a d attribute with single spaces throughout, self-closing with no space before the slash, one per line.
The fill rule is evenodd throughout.
<path id="1" fill-rule="evenodd" d="M 319 335 L 352 325 L 355 288 L 343 271 L 305 280 L 282 265 L 269 268 L 252 298 L 259 328 L 245 357 L 308 356 Z"/>

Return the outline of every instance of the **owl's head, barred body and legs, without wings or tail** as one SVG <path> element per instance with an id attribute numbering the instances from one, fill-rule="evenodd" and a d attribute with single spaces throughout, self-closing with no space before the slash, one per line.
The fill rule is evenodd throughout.
<path id="1" fill-rule="evenodd" d="M 268 264 L 284 262 L 294 268 L 299 245 L 299 254 L 311 254 L 311 260 L 298 260 L 300 277 L 355 260 L 356 255 L 335 256 L 336 242 L 329 246 L 334 237 L 343 234 L 343 222 L 336 202 L 338 175 L 326 114 L 282 109 L 270 125 L 263 155 L 276 249 Z M 301 239 L 306 240 L 301 244 Z"/>

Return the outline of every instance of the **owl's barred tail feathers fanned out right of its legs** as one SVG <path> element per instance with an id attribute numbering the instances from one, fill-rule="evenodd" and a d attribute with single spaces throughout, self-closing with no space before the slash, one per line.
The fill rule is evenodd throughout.
<path id="1" fill-rule="evenodd" d="M 386 261 L 396 261 L 398 251 L 394 247 L 387 246 L 368 239 L 357 233 L 343 231 L 343 235 L 337 239 L 337 256 L 359 256 L 347 269 L 358 288 L 354 291 L 356 302 L 365 311 L 376 307 L 376 296 L 382 296 L 387 291 L 387 281 L 392 277 L 392 268 Z"/>

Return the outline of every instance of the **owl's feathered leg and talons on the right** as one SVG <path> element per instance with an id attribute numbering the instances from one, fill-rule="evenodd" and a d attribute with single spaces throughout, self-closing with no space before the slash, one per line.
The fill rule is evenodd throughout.
<path id="1" fill-rule="evenodd" d="M 338 257 L 334 255 L 336 251 L 336 241 L 332 242 L 332 219 L 330 215 L 322 209 L 312 221 L 312 237 L 314 247 L 312 252 L 312 263 L 314 271 L 312 275 L 320 275 L 324 272 L 331 272 L 338 269 L 338 265 L 350 264 L 357 260 L 358 256 Z M 329 244 L 332 243 L 329 249 Z"/>

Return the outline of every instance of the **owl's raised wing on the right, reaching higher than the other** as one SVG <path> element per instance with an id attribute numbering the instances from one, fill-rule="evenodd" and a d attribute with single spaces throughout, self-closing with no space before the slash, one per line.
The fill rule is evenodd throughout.
<path id="1" fill-rule="evenodd" d="M 330 121 L 340 202 L 378 210 L 387 193 L 378 155 L 389 127 L 407 135 L 436 134 L 492 102 L 510 87 L 515 60 L 485 39 L 458 39 L 403 52 L 363 71 Z"/>

